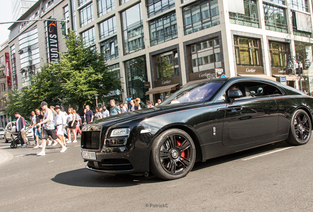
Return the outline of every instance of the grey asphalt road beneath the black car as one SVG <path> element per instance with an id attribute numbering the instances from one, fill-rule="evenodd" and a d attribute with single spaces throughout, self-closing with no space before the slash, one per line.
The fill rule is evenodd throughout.
<path id="1" fill-rule="evenodd" d="M 13 155 L 0 163 L 0 212 L 313 212 L 313 139 L 197 162 L 174 181 L 94 173 L 79 144 L 37 156 L 33 146 L 11 149 L 0 140 Z"/>

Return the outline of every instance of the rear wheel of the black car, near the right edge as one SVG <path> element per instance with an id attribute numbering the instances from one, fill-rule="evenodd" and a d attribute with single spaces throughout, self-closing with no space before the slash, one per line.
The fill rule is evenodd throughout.
<path id="1" fill-rule="evenodd" d="M 286 142 L 290 145 L 308 143 L 312 134 L 312 123 L 308 113 L 302 109 L 296 110 L 290 121 L 289 135 Z"/>

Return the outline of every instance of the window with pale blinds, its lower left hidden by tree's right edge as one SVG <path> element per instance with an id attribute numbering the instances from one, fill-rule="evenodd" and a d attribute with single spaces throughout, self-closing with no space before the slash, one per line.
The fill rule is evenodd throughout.
<path id="1" fill-rule="evenodd" d="M 100 52 L 104 53 L 106 61 L 119 57 L 117 36 L 100 43 Z"/>

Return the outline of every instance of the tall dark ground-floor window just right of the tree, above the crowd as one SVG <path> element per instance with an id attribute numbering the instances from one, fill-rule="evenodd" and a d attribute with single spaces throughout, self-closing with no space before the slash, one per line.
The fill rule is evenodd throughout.
<path id="1" fill-rule="evenodd" d="M 136 57 L 125 62 L 127 96 L 131 99 L 140 98 L 142 103 L 149 100 L 148 89 L 144 82 L 148 81 L 146 57 Z"/>

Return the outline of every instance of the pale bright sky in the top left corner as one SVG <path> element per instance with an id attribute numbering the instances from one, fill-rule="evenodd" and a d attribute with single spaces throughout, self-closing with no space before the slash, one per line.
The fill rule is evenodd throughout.
<path id="1" fill-rule="evenodd" d="M 11 0 L 0 0 L 0 5 L 0 22 L 12 21 Z M 7 28 L 11 25 L 12 24 L 0 24 L 0 45 L 8 39 L 10 31 Z"/>

